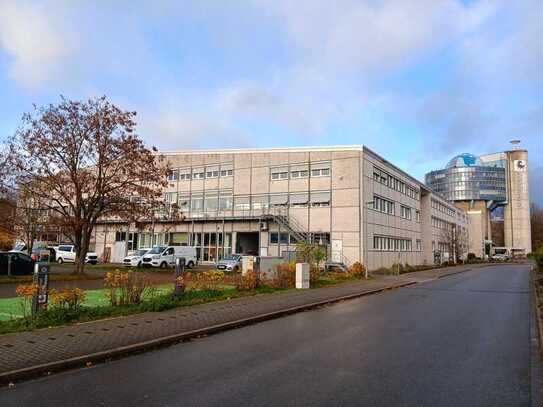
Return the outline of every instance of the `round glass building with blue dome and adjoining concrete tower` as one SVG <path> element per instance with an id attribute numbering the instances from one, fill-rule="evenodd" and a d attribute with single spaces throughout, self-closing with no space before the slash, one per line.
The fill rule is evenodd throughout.
<path id="1" fill-rule="evenodd" d="M 462 153 L 426 174 L 428 187 L 470 216 L 470 247 L 477 256 L 492 253 L 490 214 L 497 208 L 503 212 L 504 251 L 520 256 L 531 251 L 527 165 L 528 152 L 522 149 Z"/>

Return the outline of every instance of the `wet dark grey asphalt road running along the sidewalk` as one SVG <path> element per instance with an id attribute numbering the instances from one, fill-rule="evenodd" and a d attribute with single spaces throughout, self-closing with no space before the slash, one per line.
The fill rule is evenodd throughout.
<path id="1" fill-rule="evenodd" d="M 8 406 L 528 406 L 527 266 L 495 266 L 0 390 Z"/>

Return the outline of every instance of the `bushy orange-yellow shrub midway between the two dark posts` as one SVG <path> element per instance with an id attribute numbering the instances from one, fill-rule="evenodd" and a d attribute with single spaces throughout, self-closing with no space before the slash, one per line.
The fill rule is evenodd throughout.
<path id="1" fill-rule="evenodd" d="M 119 270 L 106 274 L 104 287 L 108 290 L 106 295 L 113 306 L 139 304 L 155 292 L 147 277 Z"/>

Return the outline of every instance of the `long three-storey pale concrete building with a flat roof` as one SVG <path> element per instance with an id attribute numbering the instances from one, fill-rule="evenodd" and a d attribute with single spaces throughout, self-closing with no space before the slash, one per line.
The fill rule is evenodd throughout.
<path id="1" fill-rule="evenodd" d="M 164 199 L 183 219 L 140 230 L 104 222 L 94 234 L 99 255 L 116 261 L 137 247 L 186 244 L 214 262 L 282 255 L 304 239 L 329 259 L 373 270 L 433 263 L 434 252 L 451 251 L 444 230 L 467 231 L 465 212 L 364 146 L 160 154 L 174 171 Z"/>

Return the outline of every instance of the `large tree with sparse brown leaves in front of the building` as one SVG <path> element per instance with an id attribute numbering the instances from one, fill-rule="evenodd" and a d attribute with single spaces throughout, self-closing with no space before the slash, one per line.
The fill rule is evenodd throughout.
<path id="1" fill-rule="evenodd" d="M 168 168 L 136 135 L 135 116 L 105 97 L 61 98 L 25 114 L 10 140 L 16 184 L 31 181 L 48 221 L 74 244 L 78 273 L 99 219 L 140 214 L 162 195 Z"/>

